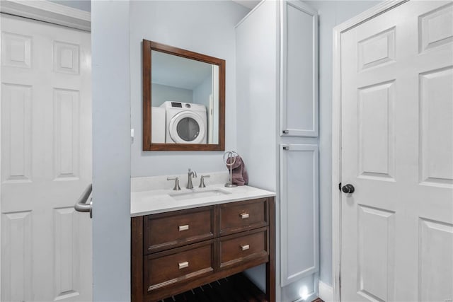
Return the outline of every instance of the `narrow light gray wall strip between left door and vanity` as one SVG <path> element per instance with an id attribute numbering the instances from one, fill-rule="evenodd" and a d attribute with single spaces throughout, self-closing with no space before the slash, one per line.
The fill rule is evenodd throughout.
<path id="1" fill-rule="evenodd" d="M 129 2 L 93 1 L 93 301 L 130 301 Z"/>

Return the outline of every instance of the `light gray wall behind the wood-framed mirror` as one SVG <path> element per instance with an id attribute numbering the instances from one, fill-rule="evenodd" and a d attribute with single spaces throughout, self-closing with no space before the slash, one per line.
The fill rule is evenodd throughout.
<path id="1" fill-rule="evenodd" d="M 142 151 L 142 40 L 226 60 L 226 150 L 236 149 L 234 25 L 248 8 L 233 1 L 131 1 L 132 176 L 225 170 L 222 151 Z"/>

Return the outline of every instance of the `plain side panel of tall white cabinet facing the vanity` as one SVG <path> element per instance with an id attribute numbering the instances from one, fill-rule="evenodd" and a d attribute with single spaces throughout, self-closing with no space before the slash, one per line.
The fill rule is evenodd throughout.
<path id="1" fill-rule="evenodd" d="M 275 192 L 277 147 L 277 2 L 266 1 L 236 30 L 238 151 L 249 185 Z M 260 30 L 261 35 L 255 35 Z M 265 33 L 265 34 L 263 34 Z M 266 62 L 266 64 L 264 64 Z M 255 130 L 255 131 L 253 131 Z"/>

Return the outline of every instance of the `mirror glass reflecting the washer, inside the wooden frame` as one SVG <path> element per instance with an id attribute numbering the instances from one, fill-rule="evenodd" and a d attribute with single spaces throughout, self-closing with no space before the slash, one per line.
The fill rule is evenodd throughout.
<path id="1" fill-rule="evenodd" d="M 151 50 L 151 142 L 219 144 L 219 66 Z"/>

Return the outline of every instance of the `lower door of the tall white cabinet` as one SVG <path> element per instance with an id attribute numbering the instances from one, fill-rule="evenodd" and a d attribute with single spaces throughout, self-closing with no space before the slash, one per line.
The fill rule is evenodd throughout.
<path id="1" fill-rule="evenodd" d="M 280 145 L 282 286 L 319 269 L 318 146 Z"/>

